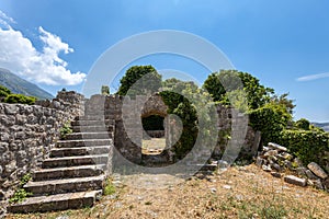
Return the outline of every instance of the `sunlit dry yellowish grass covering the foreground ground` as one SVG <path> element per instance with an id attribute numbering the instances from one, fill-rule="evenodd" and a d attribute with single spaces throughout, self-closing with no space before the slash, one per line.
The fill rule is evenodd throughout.
<path id="1" fill-rule="evenodd" d="M 328 218 L 328 193 L 288 185 L 251 164 L 164 189 L 125 186 L 93 208 L 8 218 Z"/>

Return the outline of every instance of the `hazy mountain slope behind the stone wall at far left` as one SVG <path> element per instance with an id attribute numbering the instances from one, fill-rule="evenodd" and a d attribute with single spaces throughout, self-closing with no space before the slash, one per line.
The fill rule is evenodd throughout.
<path id="1" fill-rule="evenodd" d="M 0 85 L 4 85 L 12 93 L 35 96 L 41 100 L 54 99 L 50 93 L 3 68 L 0 68 Z"/>

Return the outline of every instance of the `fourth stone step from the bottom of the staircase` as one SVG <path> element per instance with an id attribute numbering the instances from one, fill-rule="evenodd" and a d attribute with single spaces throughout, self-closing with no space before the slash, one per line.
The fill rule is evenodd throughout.
<path id="1" fill-rule="evenodd" d="M 77 155 L 65 158 L 49 158 L 44 160 L 43 168 L 65 168 L 76 165 L 92 165 L 92 164 L 105 164 L 107 163 L 109 154 L 97 155 Z"/>

